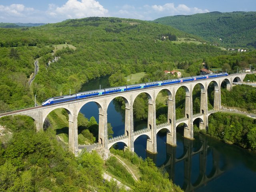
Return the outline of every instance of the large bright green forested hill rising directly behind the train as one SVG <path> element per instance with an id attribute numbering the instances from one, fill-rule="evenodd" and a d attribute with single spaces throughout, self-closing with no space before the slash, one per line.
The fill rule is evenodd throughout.
<path id="1" fill-rule="evenodd" d="M 46 98 L 78 92 L 90 79 L 121 72 L 172 70 L 178 62 L 202 62 L 227 52 L 206 44 L 181 43 L 177 38 L 200 38 L 170 26 L 120 18 L 66 20 L 32 28 L 0 28 L 0 102 L 2 110 L 32 106 Z M 163 39 L 162 36 L 166 38 Z M 170 39 L 169 39 L 170 37 Z M 55 44 L 72 44 L 54 53 Z M 48 64 L 55 56 L 58 62 Z M 26 82 L 39 58 L 39 72 Z M 200 68 L 200 66 L 199 66 Z M 28 97 L 27 97 L 28 96 Z M 30 98 L 30 99 L 29 99 Z"/>

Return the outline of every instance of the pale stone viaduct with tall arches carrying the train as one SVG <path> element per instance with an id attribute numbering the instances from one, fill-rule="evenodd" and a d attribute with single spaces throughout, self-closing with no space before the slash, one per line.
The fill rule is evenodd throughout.
<path id="1" fill-rule="evenodd" d="M 69 117 L 69 133 L 68 144 L 70 151 L 77 155 L 78 152 L 78 123 L 77 117 L 80 109 L 88 102 L 95 102 L 99 108 L 99 142 L 104 148 L 109 149 L 113 144 L 117 142 L 123 142 L 125 147 L 131 151 L 134 151 L 134 141 L 141 135 L 147 136 L 147 151 L 151 153 L 157 153 L 156 150 L 156 134 L 162 130 L 167 130 L 167 144 L 176 146 L 176 127 L 184 123 L 184 137 L 190 140 L 193 139 L 193 121 L 197 118 L 200 119 L 200 129 L 208 128 L 208 116 L 221 109 L 221 96 L 220 86 L 223 81 L 226 82 L 227 89 L 232 88 L 233 82 L 242 82 L 246 73 L 232 74 L 225 77 L 210 78 L 204 80 L 197 80 L 192 82 L 184 82 L 179 84 L 171 84 L 166 86 L 156 86 L 152 88 L 132 90 L 128 92 L 118 92 L 114 94 L 96 96 L 92 98 L 85 98 L 81 100 L 74 100 L 70 102 L 63 102 L 50 106 L 38 106 L 34 108 L 28 108 L 26 110 L 18 110 L 5 114 L 8 115 L 26 115 L 34 119 L 37 130 L 43 129 L 44 120 L 50 112 L 57 108 L 64 108 L 68 112 Z M 209 84 L 214 83 L 214 111 L 208 111 L 208 96 L 207 88 Z M 200 113 L 193 114 L 192 104 L 192 91 L 196 84 L 201 87 L 201 101 L 200 101 Z M 186 90 L 186 107 L 184 118 L 176 119 L 176 106 L 175 95 L 180 87 L 184 87 Z M 156 125 L 156 96 L 162 90 L 168 92 L 168 122 L 160 125 Z M 135 98 L 141 94 L 146 93 L 148 96 L 148 127 L 144 130 L 134 132 L 133 128 L 133 104 Z M 110 102 L 116 98 L 122 97 L 125 101 L 125 133 L 122 136 L 108 139 L 107 130 L 107 109 Z"/>

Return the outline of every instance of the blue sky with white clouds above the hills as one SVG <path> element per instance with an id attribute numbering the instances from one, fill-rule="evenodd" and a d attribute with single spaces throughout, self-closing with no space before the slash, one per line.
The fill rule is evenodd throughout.
<path id="1" fill-rule="evenodd" d="M 256 0 L 0 0 L 0 22 L 12 23 L 90 16 L 154 20 L 212 11 L 256 11 Z"/>

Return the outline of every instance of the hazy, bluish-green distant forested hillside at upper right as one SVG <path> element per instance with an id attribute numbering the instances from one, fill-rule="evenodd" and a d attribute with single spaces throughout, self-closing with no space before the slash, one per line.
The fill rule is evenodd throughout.
<path id="1" fill-rule="evenodd" d="M 256 12 L 210 12 L 158 18 L 170 25 L 226 48 L 256 48 Z"/>

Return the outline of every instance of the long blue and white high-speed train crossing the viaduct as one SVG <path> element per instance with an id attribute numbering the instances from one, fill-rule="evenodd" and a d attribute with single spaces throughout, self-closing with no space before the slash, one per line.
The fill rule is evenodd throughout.
<path id="1" fill-rule="evenodd" d="M 42 103 L 42 106 L 51 105 L 59 102 L 66 102 L 70 100 L 77 100 L 77 99 L 82 99 L 82 98 L 87 98 L 92 96 L 111 94 L 114 92 L 124 92 L 124 91 L 130 91 L 135 89 L 144 89 L 144 88 L 149 88 L 153 86 L 162 86 L 162 85 L 182 83 L 182 82 L 188 82 L 188 81 L 196 81 L 196 80 L 215 78 L 215 77 L 221 77 L 221 76 L 227 76 L 227 75 L 228 75 L 227 73 L 208 74 L 208 75 L 184 77 L 184 78 L 178 78 L 178 79 L 170 79 L 170 80 L 164 80 L 164 81 L 148 82 L 148 83 L 141 83 L 141 84 L 135 84 L 135 85 L 126 85 L 126 86 L 120 86 L 120 87 L 111 87 L 111 88 L 105 88 L 105 89 L 80 92 L 72 95 L 64 95 L 64 96 L 49 98 Z"/>

